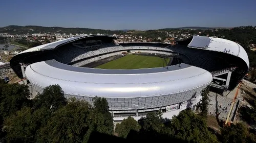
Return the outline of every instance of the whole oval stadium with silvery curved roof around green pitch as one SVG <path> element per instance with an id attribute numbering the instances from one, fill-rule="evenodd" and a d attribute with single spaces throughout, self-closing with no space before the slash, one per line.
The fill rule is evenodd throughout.
<path id="1" fill-rule="evenodd" d="M 36 46 L 15 55 L 10 66 L 28 80 L 32 94 L 58 84 L 67 98 L 91 104 L 94 97 L 106 98 L 114 121 L 154 111 L 171 118 L 195 109 L 206 86 L 232 90 L 249 69 L 243 47 L 226 39 L 117 44 L 117 38 L 90 35 Z"/>

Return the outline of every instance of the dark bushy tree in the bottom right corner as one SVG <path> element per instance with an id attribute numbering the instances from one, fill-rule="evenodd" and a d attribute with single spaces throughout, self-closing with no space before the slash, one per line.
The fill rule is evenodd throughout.
<path id="1" fill-rule="evenodd" d="M 221 134 L 223 136 L 223 142 L 256 142 L 255 135 L 249 133 L 246 125 L 243 123 L 224 126 L 221 129 Z"/>

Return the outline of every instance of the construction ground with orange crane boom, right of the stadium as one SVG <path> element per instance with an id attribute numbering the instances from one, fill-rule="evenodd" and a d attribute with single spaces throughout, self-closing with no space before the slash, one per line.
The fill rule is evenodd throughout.
<path id="1" fill-rule="evenodd" d="M 256 99 L 255 89 L 256 84 L 242 80 L 236 88 L 224 92 L 224 94 L 210 91 L 208 95 L 208 127 L 220 133 L 223 126 L 243 122 L 249 128 L 254 129 L 254 123 L 246 122 L 243 110 L 253 108 Z"/>

